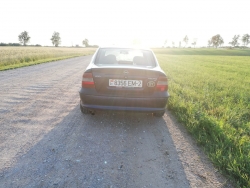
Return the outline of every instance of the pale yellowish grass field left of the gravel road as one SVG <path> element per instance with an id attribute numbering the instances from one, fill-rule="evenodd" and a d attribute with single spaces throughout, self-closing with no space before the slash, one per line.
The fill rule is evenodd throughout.
<path id="1" fill-rule="evenodd" d="M 96 48 L 0 47 L 0 71 L 90 55 Z"/>

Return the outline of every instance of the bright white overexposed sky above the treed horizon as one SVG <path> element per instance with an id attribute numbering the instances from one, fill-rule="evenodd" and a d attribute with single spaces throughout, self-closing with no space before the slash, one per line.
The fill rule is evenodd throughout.
<path id="1" fill-rule="evenodd" d="M 54 31 L 61 46 L 206 46 L 216 34 L 229 45 L 234 35 L 250 34 L 249 0 L 0 0 L 0 42 L 51 46 Z"/>

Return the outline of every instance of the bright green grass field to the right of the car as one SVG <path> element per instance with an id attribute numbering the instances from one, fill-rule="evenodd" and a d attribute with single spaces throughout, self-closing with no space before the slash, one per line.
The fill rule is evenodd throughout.
<path id="1" fill-rule="evenodd" d="M 154 51 L 169 77 L 168 108 L 218 169 L 250 187 L 250 50 Z"/>

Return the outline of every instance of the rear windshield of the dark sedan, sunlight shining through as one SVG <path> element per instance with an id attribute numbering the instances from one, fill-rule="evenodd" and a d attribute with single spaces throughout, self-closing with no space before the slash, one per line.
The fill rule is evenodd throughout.
<path id="1" fill-rule="evenodd" d="M 96 60 L 96 65 L 133 65 L 143 67 L 155 67 L 155 59 L 149 50 L 137 49 L 99 49 Z"/>

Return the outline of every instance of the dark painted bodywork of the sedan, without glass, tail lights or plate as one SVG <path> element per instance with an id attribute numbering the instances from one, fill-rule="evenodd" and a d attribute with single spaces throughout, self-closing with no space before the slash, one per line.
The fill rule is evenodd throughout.
<path id="1" fill-rule="evenodd" d="M 149 50 L 154 59 L 154 63 L 152 63 L 154 66 L 151 67 L 132 64 L 96 65 L 95 60 L 98 57 L 98 51 L 99 49 L 93 55 L 90 64 L 85 70 L 85 73 L 92 73 L 95 87 L 82 87 L 80 89 L 82 107 L 91 110 L 106 109 L 152 113 L 165 110 L 169 93 L 168 91 L 157 91 L 156 85 L 158 78 L 166 77 L 166 75 L 160 68 L 152 51 Z M 140 80 L 142 81 L 142 87 L 109 86 L 110 79 Z"/>

